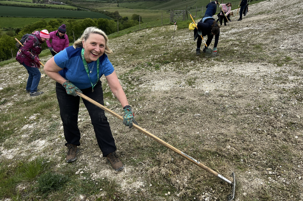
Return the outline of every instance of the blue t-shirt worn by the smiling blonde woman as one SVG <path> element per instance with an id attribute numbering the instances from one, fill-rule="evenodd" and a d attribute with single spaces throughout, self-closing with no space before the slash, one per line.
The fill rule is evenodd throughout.
<path id="1" fill-rule="evenodd" d="M 55 55 L 54 60 L 60 68 L 63 68 L 59 71 L 62 77 L 69 80 L 79 89 L 87 89 L 92 87 L 91 83 L 94 85 L 98 81 L 97 61 L 87 63 L 88 68 L 92 70 L 88 78 L 81 57 L 81 50 L 82 48 L 75 49 L 73 46 L 69 46 Z M 107 76 L 114 72 L 114 67 L 105 53 L 99 57 L 99 63 L 99 79 L 102 75 Z"/>

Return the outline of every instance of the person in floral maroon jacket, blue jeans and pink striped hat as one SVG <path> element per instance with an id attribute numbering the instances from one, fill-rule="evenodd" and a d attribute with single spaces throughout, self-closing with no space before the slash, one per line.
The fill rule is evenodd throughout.
<path id="1" fill-rule="evenodd" d="M 42 51 L 40 45 L 48 39 L 49 34 L 46 29 L 34 31 L 32 35 L 26 38 L 23 47 L 20 47 L 16 55 L 16 60 L 26 68 L 29 74 L 26 93 L 29 93 L 30 96 L 43 94 L 43 91 L 38 92 L 38 84 L 41 78 L 41 72 L 39 71 L 40 59 L 38 55 Z"/>

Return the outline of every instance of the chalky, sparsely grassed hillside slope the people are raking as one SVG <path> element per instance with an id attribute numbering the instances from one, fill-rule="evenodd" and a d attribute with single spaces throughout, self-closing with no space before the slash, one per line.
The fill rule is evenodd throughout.
<path id="1" fill-rule="evenodd" d="M 110 40 L 109 59 L 139 126 L 228 179 L 234 172 L 237 201 L 303 200 L 300 2 L 267 0 L 250 6 L 242 21 L 232 17 L 220 28 L 219 55 L 213 58 L 196 56 L 193 33 L 174 25 Z M 82 102 L 80 152 L 74 163 L 65 163 L 54 81 L 43 77 L 39 88 L 45 93 L 30 98 L 19 63 L 1 67 L 0 79 L 1 128 L 11 131 L 2 135 L 1 161 L 17 165 L 41 156 L 54 164 L 52 171 L 74 175 L 71 183 L 94 183 L 97 192 L 67 187 L 66 200 L 226 200 L 229 185 L 108 114 L 125 165 L 113 171 L 100 157 Z M 104 102 L 122 115 L 101 80 Z M 18 114 L 20 121 L 14 119 Z M 105 180 L 110 182 L 102 186 Z M 106 188 L 112 183 L 115 193 Z M 30 185 L 20 184 L 20 194 Z"/>

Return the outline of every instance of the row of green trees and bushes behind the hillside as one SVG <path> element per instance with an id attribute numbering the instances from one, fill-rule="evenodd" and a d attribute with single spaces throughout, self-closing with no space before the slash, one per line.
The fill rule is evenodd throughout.
<path id="1" fill-rule="evenodd" d="M 16 29 L 14 32 L 0 32 L 0 61 L 11 59 L 12 55 L 15 57 L 17 54 L 16 40 L 20 40 L 22 36 L 26 33 L 32 33 L 33 31 L 41 31 L 47 29 L 48 32 L 56 31 L 61 24 L 66 25 L 66 34 L 68 35 L 69 42 L 74 42 L 77 40 L 87 27 L 97 27 L 102 29 L 107 35 L 117 32 L 117 20 L 119 21 L 119 30 L 123 30 L 139 24 L 139 15 L 133 14 L 132 19 L 129 20 L 128 17 L 119 17 L 115 20 L 108 20 L 105 18 L 91 19 L 85 18 L 83 20 L 75 19 L 56 19 L 47 22 L 44 18 L 34 22 L 32 24 L 27 24 L 23 28 Z M 142 19 L 141 19 L 142 22 Z M 0 27 L 1 28 L 1 27 Z M 42 44 L 42 50 L 47 49 L 46 43 Z"/>

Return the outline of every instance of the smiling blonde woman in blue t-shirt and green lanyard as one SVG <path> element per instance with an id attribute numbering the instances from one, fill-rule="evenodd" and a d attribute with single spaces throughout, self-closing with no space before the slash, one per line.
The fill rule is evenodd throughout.
<path id="1" fill-rule="evenodd" d="M 64 49 L 45 64 L 44 72 L 57 81 L 56 93 L 66 139 L 65 146 L 68 147 L 66 162 L 76 160 L 80 146 L 77 125 L 80 97 L 76 91 L 104 105 L 100 81 L 102 75 L 123 107 L 123 123 L 129 128 L 132 128 L 133 123 L 137 124 L 113 65 L 106 55 L 112 52 L 107 42 L 108 38 L 102 30 L 88 27 L 73 46 Z M 103 157 L 107 158 L 115 171 L 122 170 L 124 166 L 115 154 L 117 148 L 104 110 L 85 99 L 82 100 L 91 117 Z"/>

